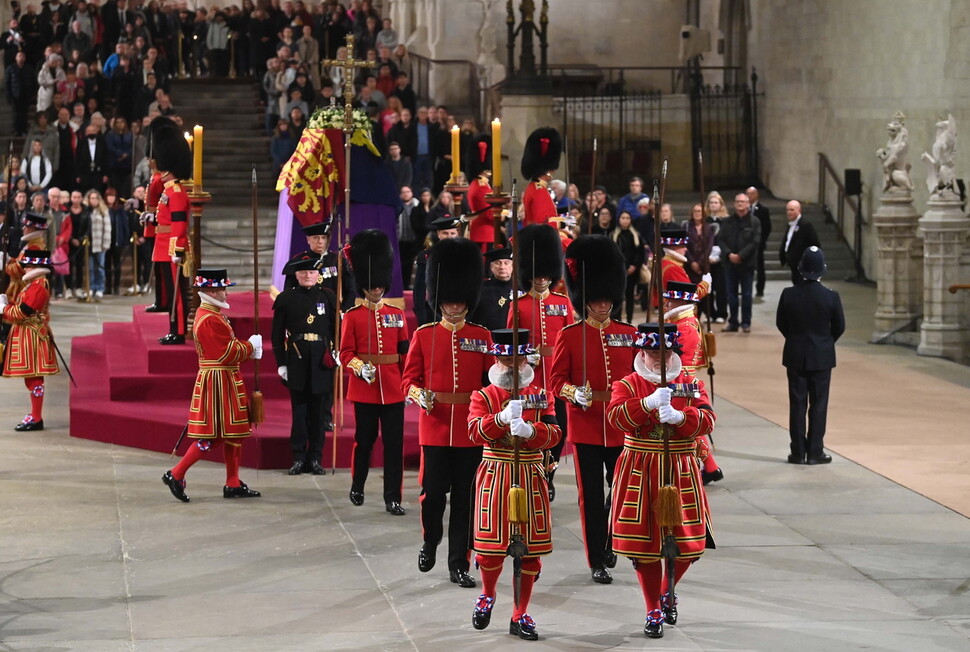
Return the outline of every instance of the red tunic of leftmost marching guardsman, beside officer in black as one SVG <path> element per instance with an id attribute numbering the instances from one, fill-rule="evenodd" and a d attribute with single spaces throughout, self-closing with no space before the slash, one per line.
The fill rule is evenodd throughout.
<path id="1" fill-rule="evenodd" d="M 384 302 L 354 306 L 343 316 L 340 327 L 340 364 L 347 367 L 354 358 L 370 362 L 377 368 L 373 384 L 368 385 L 356 374 L 350 376 L 347 398 L 357 403 L 388 405 L 404 400 L 401 372 L 404 356 L 399 355 L 401 342 L 408 341 L 404 311 Z M 393 359 L 396 358 L 396 359 Z"/>

